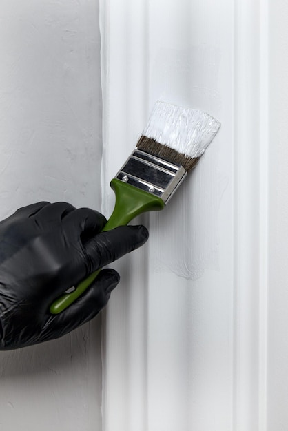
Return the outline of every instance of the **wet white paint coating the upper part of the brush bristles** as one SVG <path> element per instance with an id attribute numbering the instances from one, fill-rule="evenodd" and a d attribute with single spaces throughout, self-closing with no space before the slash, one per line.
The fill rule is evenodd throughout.
<path id="1" fill-rule="evenodd" d="M 206 112 L 157 101 L 143 135 L 196 158 L 204 153 L 219 127 L 219 121 Z"/>

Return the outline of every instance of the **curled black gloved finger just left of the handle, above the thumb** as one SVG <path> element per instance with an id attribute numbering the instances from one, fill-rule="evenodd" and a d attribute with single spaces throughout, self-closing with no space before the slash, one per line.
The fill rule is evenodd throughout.
<path id="1" fill-rule="evenodd" d="M 63 229 L 67 232 L 76 232 L 81 235 L 81 240 L 87 240 L 99 233 L 105 226 L 104 215 L 90 208 L 79 208 L 70 213 L 63 220 Z"/>

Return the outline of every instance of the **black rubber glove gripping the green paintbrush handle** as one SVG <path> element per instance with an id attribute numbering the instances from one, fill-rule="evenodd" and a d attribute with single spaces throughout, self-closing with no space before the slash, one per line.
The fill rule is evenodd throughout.
<path id="1" fill-rule="evenodd" d="M 119 282 L 112 269 L 62 313 L 49 311 L 68 288 L 148 238 L 143 226 L 100 233 L 105 222 L 92 209 L 63 202 L 23 207 L 0 222 L 0 350 L 61 337 L 107 304 Z"/>

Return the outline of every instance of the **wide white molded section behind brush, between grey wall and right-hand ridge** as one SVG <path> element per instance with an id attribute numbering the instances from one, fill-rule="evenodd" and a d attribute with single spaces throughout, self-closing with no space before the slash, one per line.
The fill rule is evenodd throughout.
<path id="1" fill-rule="evenodd" d="M 157 99 L 222 127 L 144 249 L 118 264 L 106 313 L 106 431 L 231 430 L 234 332 L 234 9 L 228 1 L 102 1 L 103 189 Z M 122 160 L 122 161 L 121 161 Z"/>

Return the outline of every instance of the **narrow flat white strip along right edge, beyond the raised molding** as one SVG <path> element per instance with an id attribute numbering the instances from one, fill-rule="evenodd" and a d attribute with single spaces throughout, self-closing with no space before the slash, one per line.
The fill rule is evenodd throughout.
<path id="1" fill-rule="evenodd" d="M 269 3 L 269 294 L 267 430 L 288 427 L 288 5 Z"/>

